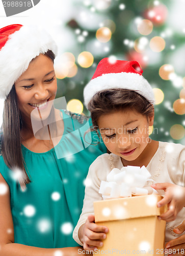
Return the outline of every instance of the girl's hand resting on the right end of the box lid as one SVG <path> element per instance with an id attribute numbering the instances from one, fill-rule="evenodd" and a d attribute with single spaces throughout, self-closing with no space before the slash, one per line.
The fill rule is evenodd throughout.
<path id="1" fill-rule="evenodd" d="M 157 207 L 167 204 L 168 210 L 158 219 L 174 221 L 178 212 L 185 206 L 185 188 L 171 183 L 156 183 L 151 187 L 165 190 L 165 197 L 157 203 Z"/>

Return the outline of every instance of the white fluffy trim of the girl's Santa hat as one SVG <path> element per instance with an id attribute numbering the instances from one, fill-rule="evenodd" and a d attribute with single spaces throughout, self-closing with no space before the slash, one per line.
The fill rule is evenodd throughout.
<path id="1" fill-rule="evenodd" d="M 102 74 L 92 79 L 84 89 L 84 102 L 86 107 L 97 92 L 107 89 L 127 89 L 136 91 L 150 103 L 154 104 L 155 101 L 152 88 L 142 75 L 121 72 Z"/>

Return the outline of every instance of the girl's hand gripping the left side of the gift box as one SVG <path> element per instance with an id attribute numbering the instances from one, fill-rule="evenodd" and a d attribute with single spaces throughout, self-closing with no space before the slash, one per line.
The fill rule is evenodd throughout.
<path id="1" fill-rule="evenodd" d="M 97 249 L 97 247 L 102 247 L 103 242 L 99 240 L 105 239 L 108 232 L 109 229 L 107 227 L 94 223 L 94 215 L 89 215 L 83 227 L 84 250 L 92 251 Z"/>

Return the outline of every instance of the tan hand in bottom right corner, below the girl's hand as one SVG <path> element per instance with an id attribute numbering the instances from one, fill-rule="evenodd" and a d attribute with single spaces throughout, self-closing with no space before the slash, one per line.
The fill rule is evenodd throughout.
<path id="1" fill-rule="evenodd" d="M 174 228 L 173 231 L 176 234 L 181 234 L 185 231 L 185 221 L 183 221 L 178 227 Z M 169 241 L 166 244 L 166 248 L 168 248 L 169 255 L 185 255 L 185 234 L 182 234 L 181 237 L 175 238 Z M 173 252 L 175 252 L 173 254 Z"/>

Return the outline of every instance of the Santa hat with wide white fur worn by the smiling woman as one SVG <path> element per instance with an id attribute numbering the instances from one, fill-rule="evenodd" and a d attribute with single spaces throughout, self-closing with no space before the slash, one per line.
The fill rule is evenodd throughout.
<path id="1" fill-rule="evenodd" d="M 0 98 L 7 97 L 31 60 L 48 50 L 57 54 L 55 41 L 35 25 L 14 24 L 0 29 Z"/>

